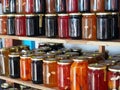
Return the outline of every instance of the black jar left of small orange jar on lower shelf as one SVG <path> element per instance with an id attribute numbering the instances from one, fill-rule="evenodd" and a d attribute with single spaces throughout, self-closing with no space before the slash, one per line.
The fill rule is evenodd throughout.
<path id="1" fill-rule="evenodd" d="M 9 54 L 9 76 L 20 78 L 20 55 L 18 53 Z"/>

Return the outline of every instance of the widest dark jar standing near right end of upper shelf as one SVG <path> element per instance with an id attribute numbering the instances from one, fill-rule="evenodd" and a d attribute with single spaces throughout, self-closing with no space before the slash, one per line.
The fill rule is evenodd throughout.
<path id="1" fill-rule="evenodd" d="M 110 13 L 97 13 L 97 39 L 111 40 Z"/>

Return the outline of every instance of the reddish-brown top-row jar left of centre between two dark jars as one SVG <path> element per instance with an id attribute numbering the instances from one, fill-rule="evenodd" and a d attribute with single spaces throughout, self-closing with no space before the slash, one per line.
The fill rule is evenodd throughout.
<path id="1" fill-rule="evenodd" d="M 45 0 L 46 1 L 46 13 L 54 14 L 56 0 Z"/>

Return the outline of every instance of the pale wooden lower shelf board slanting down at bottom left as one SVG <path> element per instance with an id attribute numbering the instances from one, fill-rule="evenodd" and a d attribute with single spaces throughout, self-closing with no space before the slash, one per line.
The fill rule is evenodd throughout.
<path id="1" fill-rule="evenodd" d="M 45 87 L 44 85 L 41 85 L 41 84 L 33 84 L 31 81 L 22 81 L 20 79 L 12 79 L 12 78 L 5 77 L 5 76 L 0 76 L 0 79 L 7 80 L 9 82 L 14 82 L 14 83 L 17 83 L 17 84 L 22 84 L 22 85 L 32 87 L 32 88 L 36 88 L 36 89 L 58 90 L 57 88 L 48 88 L 48 87 Z"/>

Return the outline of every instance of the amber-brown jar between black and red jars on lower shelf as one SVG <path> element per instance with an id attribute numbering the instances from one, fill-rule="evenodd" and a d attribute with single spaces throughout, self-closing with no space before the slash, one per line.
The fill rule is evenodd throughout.
<path id="1" fill-rule="evenodd" d="M 55 58 L 43 61 L 43 84 L 48 87 L 57 87 L 57 61 Z"/>

